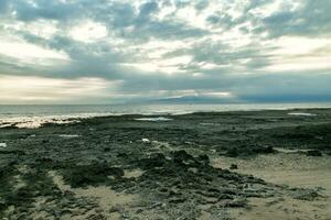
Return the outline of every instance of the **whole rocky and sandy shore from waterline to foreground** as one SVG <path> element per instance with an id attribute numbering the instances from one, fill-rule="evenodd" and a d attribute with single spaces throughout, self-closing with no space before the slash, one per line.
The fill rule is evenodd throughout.
<path id="1" fill-rule="evenodd" d="M 0 219 L 331 219 L 331 109 L 0 128 Z"/>

